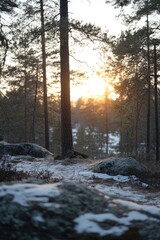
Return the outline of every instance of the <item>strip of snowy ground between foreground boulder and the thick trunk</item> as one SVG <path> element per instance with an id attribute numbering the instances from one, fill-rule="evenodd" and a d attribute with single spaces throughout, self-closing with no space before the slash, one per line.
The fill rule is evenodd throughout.
<path id="1" fill-rule="evenodd" d="M 135 203 L 160 207 L 159 192 L 153 192 L 147 184 L 141 183 L 135 176 L 110 176 L 93 173 L 91 165 L 94 162 L 77 162 L 65 164 L 64 161 L 23 161 L 16 163 L 17 171 L 45 172 L 48 171 L 53 182 L 83 183 L 105 195 L 112 195 Z M 137 188 L 133 183 L 137 183 Z M 140 183 L 140 184 L 139 184 Z"/>

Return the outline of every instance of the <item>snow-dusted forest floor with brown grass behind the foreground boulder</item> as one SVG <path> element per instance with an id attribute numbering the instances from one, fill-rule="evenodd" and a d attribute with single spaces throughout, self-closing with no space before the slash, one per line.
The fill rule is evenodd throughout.
<path id="1" fill-rule="evenodd" d="M 93 173 L 94 160 L 42 160 L 15 161 L 17 173 L 21 173 L 21 182 L 41 183 L 74 182 L 85 184 L 105 195 L 112 195 L 138 204 L 152 205 L 160 208 L 160 178 L 139 179 L 135 176 L 110 176 Z M 27 177 L 29 176 L 29 178 Z M 22 180 L 23 179 L 23 180 Z"/>

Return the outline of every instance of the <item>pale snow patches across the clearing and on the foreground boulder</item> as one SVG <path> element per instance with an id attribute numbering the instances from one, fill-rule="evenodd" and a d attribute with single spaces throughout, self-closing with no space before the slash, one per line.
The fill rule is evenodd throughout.
<path id="1" fill-rule="evenodd" d="M 13 161 L 14 160 L 14 161 Z M 102 213 L 86 212 L 73 219 L 75 226 L 74 230 L 81 233 L 98 234 L 99 236 L 121 236 L 125 234 L 128 229 L 132 228 L 133 221 L 153 221 L 159 222 L 160 216 L 160 198 L 158 191 L 152 191 L 150 187 L 141 182 L 135 176 L 110 176 L 102 173 L 92 172 L 92 165 L 95 161 L 91 160 L 42 160 L 24 161 L 18 160 L 14 157 L 7 158 L 7 164 L 11 163 L 15 166 L 16 171 L 30 172 L 33 177 L 43 176 L 48 174 L 49 183 L 35 181 L 34 179 L 26 179 L 17 182 L 16 184 L 1 184 L 0 197 L 6 194 L 13 196 L 12 201 L 21 206 L 27 207 L 30 203 L 34 202 L 46 208 L 54 206 L 56 209 L 61 208 L 59 202 L 50 202 L 49 197 L 57 197 L 60 193 L 59 183 L 61 182 L 74 182 L 78 184 L 85 184 L 91 189 L 95 189 L 103 193 L 106 200 L 112 199 L 112 204 L 126 206 L 127 210 L 120 216 L 112 212 L 104 211 Z M 13 167 L 12 166 L 12 167 Z M 35 181 L 35 182 L 34 182 Z M 41 184 L 43 183 L 43 184 Z M 109 196 L 114 196 L 110 198 Z M 142 211 L 141 211 L 142 210 Z M 152 216 L 152 217 L 151 217 Z M 44 215 L 37 213 L 33 216 L 34 221 L 38 224 L 44 224 Z M 103 222 L 114 222 L 115 225 L 109 224 L 110 227 L 103 228 Z M 39 225 L 38 225 L 39 226 Z M 105 225 L 104 225 L 105 226 Z M 150 230 L 149 230 L 150 231 Z M 154 228 L 153 231 L 157 231 Z M 154 239 L 159 240 L 160 234 Z M 3 238 L 3 237 L 2 237 Z M 144 238 L 143 238 L 144 239 Z M 147 239 L 153 239 L 151 238 Z"/>

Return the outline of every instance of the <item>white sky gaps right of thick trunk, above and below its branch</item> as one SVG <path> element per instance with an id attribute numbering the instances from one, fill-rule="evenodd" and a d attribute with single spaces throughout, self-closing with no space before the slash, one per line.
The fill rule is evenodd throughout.
<path id="1" fill-rule="evenodd" d="M 70 0 L 69 1 L 69 17 L 83 20 L 84 23 L 92 23 L 100 26 L 104 32 L 110 35 L 118 35 L 122 30 L 120 19 L 116 16 L 119 10 L 115 10 L 111 5 L 105 4 L 105 0 Z M 87 72 L 88 78 L 82 85 L 71 84 L 71 98 L 76 100 L 79 97 L 102 97 L 105 92 L 106 83 L 104 79 L 97 76 L 96 70 L 99 66 L 98 51 L 93 51 L 90 44 L 86 49 L 81 49 L 78 58 L 86 61 L 89 65 L 88 69 L 85 64 L 81 64 L 82 71 Z M 71 58 L 71 68 L 76 66 L 78 62 Z M 108 85 L 108 88 L 111 88 Z M 112 90 L 110 89 L 112 92 Z"/>

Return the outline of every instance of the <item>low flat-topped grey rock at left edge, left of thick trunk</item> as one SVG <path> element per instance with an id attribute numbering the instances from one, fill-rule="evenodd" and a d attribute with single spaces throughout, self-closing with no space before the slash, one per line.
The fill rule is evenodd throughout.
<path id="1" fill-rule="evenodd" d="M 53 154 L 47 149 L 34 143 L 11 144 L 6 142 L 0 142 L 0 155 L 29 155 L 38 158 L 45 158 L 47 156 L 53 157 Z"/>

